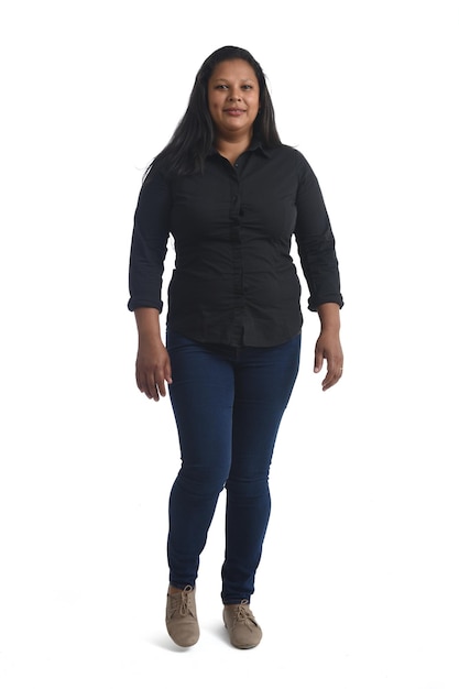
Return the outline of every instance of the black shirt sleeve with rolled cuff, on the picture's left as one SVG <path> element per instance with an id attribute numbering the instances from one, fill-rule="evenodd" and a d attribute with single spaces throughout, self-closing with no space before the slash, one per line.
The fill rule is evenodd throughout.
<path id="1" fill-rule="evenodd" d="M 129 310 L 139 307 L 163 310 L 164 259 L 170 234 L 171 194 L 160 172 L 149 175 L 140 190 L 134 214 L 129 262 Z"/>

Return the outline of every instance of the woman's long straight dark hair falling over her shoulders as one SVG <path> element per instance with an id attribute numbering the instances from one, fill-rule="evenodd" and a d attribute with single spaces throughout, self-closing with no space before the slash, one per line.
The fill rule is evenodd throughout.
<path id="1" fill-rule="evenodd" d="M 274 108 L 263 69 L 249 51 L 227 45 L 215 51 L 203 63 L 196 75 L 186 112 L 178 122 L 168 144 L 147 167 L 144 175 L 145 181 L 150 171 L 157 163 L 164 163 L 165 171 L 172 175 L 203 172 L 215 135 L 214 122 L 207 102 L 207 85 L 216 66 L 227 59 L 244 59 L 256 75 L 260 88 L 260 111 L 253 123 L 253 134 L 267 147 L 281 144 L 275 125 Z"/>

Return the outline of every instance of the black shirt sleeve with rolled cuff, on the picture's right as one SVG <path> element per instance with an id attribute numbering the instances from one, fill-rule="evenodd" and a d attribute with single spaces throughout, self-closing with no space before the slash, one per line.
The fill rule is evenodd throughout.
<path id="1" fill-rule="evenodd" d="M 308 308 L 320 304 L 343 305 L 340 291 L 335 237 L 316 175 L 299 155 L 295 239 L 303 272 L 309 287 Z"/>

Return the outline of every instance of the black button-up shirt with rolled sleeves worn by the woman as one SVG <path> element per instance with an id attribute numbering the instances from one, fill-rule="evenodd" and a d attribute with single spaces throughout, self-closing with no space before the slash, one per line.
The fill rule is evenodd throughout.
<path id="1" fill-rule="evenodd" d="M 168 236 L 175 269 L 167 326 L 203 342 L 281 344 L 299 332 L 300 285 L 308 307 L 342 306 L 335 239 L 317 178 L 305 157 L 254 143 L 232 166 L 219 153 L 203 174 L 168 177 L 161 166 L 142 185 L 134 216 L 128 307 L 163 308 Z"/>

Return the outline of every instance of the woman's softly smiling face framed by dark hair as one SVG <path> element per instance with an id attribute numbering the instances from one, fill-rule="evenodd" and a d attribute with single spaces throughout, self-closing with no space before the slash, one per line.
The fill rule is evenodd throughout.
<path id="1" fill-rule="evenodd" d="M 260 108 L 260 87 L 249 63 L 244 59 L 219 63 L 210 75 L 207 98 L 220 136 L 252 135 Z"/>

